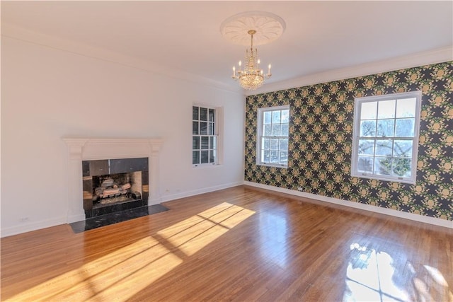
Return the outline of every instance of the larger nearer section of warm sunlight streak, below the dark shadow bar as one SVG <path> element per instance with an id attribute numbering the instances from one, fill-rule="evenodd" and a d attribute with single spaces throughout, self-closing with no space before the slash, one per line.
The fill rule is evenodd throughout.
<path id="1" fill-rule="evenodd" d="M 10 301 L 96 301 L 112 296 L 126 300 L 181 262 L 164 245 L 147 237 L 23 291 Z"/>

